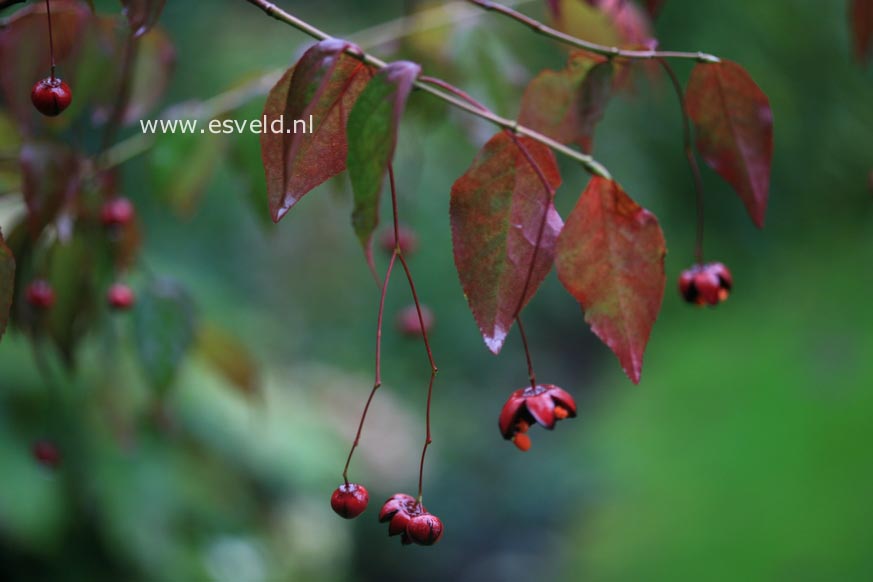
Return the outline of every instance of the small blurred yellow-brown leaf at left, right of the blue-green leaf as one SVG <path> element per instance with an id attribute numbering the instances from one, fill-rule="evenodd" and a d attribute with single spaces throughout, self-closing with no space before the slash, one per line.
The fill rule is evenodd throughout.
<path id="1" fill-rule="evenodd" d="M 255 359 L 233 334 L 205 323 L 197 333 L 196 352 L 244 396 L 260 393 L 261 378 Z"/>

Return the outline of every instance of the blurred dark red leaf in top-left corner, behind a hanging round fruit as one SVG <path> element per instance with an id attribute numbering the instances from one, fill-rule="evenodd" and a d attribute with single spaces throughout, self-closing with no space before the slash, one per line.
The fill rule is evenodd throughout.
<path id="1" fill-rule="evenodd" d="M 81 47 L 90 19 L 91 10 L 86 2 L 52 2 L 52 32 L 58 76 L 70 83 L 74 67 L 67 65 Z M 34 2 L 15 12 L 6 21 L 6 26 L 0 28 L 0 91 L 7 108 L 22 125 L 27 125 L 35 116 L 30 102 L 31 87 L 50 73 L 48 47 L 44 2 Z"/>

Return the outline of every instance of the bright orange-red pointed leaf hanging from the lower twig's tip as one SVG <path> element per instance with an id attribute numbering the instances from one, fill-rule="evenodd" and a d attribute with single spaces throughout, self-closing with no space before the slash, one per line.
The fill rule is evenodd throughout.
<path id="1" fill-rule="evenodd" d="M 558 239 L 561 283 L 592 331 L 639 383 L 643 353 L 664 297 L 664 235 L 658 220 L 617 183 L 592 178 Z"/>

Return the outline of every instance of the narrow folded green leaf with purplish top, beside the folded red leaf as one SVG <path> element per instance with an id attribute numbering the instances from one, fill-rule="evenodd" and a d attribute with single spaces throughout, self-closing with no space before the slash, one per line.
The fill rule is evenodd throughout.
<path id="1" fill-rule="evenodd" d="M 408 61 L 379 71 L 358 97 L 348 121 L 349 178 L 355 194 L 352 224 L 372 267 L 371 238 L 379 224 L 379 198 L 397 146 L 397 128 L 421 67 Z"/>

